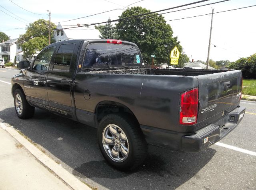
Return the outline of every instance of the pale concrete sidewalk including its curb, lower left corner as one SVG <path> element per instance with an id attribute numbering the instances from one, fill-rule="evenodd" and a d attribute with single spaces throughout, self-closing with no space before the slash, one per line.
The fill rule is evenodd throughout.
<path id="1" fill-rule="evenodd" d="M 1 190 L 90 190 L 88 186 L 34 147 L 15 129 L 6 127 L 4 123 L 0 124 Z M 34 151 L 32 151 L 33 147 Z M 36 158 L 37 151 L 42 158 L 39 159 L 40 161 Z"/>

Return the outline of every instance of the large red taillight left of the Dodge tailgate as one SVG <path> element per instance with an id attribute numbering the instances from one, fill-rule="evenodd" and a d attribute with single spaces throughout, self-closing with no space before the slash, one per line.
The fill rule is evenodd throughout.
<path id="1" fill-rule="evenodd" d="M 198 88 L 183 92 L 180 98 L 180 124 L 195 124 L 198 112 Z"/>

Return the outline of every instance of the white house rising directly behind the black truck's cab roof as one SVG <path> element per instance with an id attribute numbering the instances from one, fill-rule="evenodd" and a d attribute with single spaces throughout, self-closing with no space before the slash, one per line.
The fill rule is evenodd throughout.
<path id="1" fill-rule="evenodd" d="M 53 34 L 55 42 L 70 39 L 100 39 L 100 31 L 97 29 L 87 29 L 86 27 L 63 29 L 59 23 Z"/>

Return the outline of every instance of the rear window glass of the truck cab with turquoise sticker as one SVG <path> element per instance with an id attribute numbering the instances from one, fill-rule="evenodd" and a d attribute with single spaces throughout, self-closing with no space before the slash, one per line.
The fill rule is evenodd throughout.
<path id="1" fill-rule="evenodd" d="M 133 67 L 142 65 L 138 49 L 122 44 L 89 44 L 86 47 L 84 68 Z"/>

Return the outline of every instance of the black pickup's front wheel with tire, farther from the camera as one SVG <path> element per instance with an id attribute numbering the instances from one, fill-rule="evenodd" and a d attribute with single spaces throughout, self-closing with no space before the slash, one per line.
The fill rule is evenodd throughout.
<path id="1" fill-rule="evenodd" d="M 28 104 L 26 96 L 20 88 L 14 91 L 14 108 L 17 116 L 21 119 L 31 118 L 35 112 L 35 107 Z"/>

